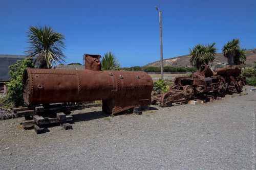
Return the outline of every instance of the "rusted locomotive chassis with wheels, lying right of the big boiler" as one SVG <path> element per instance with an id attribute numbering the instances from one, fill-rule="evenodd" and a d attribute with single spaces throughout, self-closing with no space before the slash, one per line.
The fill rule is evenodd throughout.
<path id="1" fill-rule="evenodd" d="M 226 93 L 241 92 L 245 78 L 240 74 L 239 66 L 226 66 L 212 71 L 208 65 L 202 65 L 201 69 L 190 77 L 175 78 L 174 86 L 161 96 L 153 96 L 152 102 L 160 101 L 162 107 L 168 107 L 203 94 L 225 96 Z"/>

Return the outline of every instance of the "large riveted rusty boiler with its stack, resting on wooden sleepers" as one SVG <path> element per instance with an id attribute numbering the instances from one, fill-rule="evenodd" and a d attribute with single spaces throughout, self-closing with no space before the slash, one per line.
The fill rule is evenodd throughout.
<path id="1" fill-rule="evenodd" d="M 39 104 L 102 100 L 109 114 L 151 104 L 153 80 L 146 72 L 101 71 L 99 55 L 84 55 L 86 69 L 31 69 L 24 75 L 24 101 Z"/>

